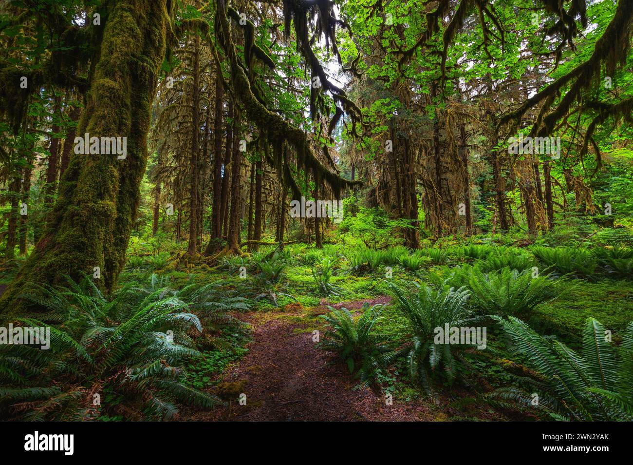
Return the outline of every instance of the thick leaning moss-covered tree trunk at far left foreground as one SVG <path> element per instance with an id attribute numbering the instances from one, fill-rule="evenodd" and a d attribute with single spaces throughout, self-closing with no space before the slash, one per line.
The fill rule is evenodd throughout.
<path id="1" fill-rule="evenodd" d="M 21 309 L 18 296 L 32 283 L 58 284 L 65 274 L 78 279 L 96 267 L 97 285 L 111 290 L 125 262 L 172 2 L 114 0 L 109 6 L 77 134 L 127 137 L 125 159 L 73 153 L 44 234 L 4 292 L 0 309 Z"/>

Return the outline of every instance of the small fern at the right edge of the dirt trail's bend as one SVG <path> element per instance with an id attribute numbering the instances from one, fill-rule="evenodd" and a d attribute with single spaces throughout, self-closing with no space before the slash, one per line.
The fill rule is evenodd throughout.
<path id="1" fill-rule="evenodd" d="M 358 318 L 342 308 L 335 310 L 329 307 L 330 312 L 320 317 L 324 319 L 329 329 L 324 334 L 324 339 L 318 343 L 319 347 L 337 354 L 346 362 L 349 373 L 354 373 L 358 368 L 356 377 L 367 381 L 372 379 L 375 373 L 375 359 L 379 354 L 389 350 L 387 342 L 392 339 L 385 334 L 377 334 L 373 327 L 381 319 L 382 305 L 374 305 L 365 308 Z"/>

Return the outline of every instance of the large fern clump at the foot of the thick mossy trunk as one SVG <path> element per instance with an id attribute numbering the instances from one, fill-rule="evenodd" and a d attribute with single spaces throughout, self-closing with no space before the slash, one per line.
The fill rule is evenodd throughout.
<path id="1" fill-rule="evenodd" d="M 212 407 L 216 399 L 180 383 L 183 366 L 200 354 L 191 334 L 202 324 L 178 291 L 128 284 L 106 298 L 87 277 L 68 287 L 40 287 L 25 298 L 44 307 L 51 347 L 0 346 L 0 412 L 27 420 L 88 420 L 125 413 L 130 419 L 169 419 L 175 402 Z M 192 297 L 192 295 L 190 295 Z M 10 385 L 10 386 L 9 386 Z M 120 402 L 93 405 L 93 395 Z"/>

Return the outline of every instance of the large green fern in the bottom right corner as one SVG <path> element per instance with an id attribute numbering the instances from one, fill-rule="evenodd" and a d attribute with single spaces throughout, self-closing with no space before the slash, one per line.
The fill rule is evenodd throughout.
<path id="1" fill-rule="evenodd" d="M 606 341 L 601 322 L 587 319 L 578 353 L 540 336 L 518 318 L 496 321 L 539 376 L 522 378 L 529 383 L 527 390 L 497 390 L 489 396 L 494 402 L 533 408 L 532 393 L 537 393 L 538 407 L 556 420 L 633 421 L 633 322 L 618 348 Z"/>

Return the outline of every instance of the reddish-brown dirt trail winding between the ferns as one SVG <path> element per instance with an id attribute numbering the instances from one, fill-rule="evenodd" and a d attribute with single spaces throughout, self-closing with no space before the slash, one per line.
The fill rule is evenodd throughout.
<path id="1" fill-rule="evenodd" d="M 343 303 L 337 307 L 359 309 L 364 302 L 386 303 L 389 298 Z M 315 311 L 316 310 L 316 311 Z M 311 314 L 325 313 L 327 307 Z M 304 312 L 249 314 L 254 340 L 249 353 L 224 381 L 246 394 L 246 405 L 237 396 L 229 407 L 212 417 L 229 421 L 398 421 L 432 420 L 437 412 L 429 404 L 385 404 L 382 393 L 353 390 L 356 380 L 346 366 L 331 364 L 332 355 L 315 347 Z M 308 329 L 306 329 L 308 328 Z M 242 382 L 240 385 L 239 382 Z"/>

